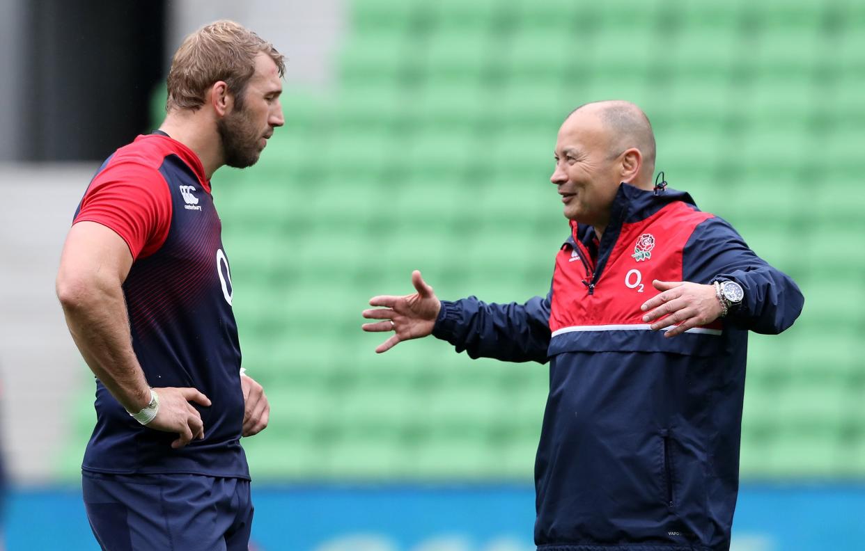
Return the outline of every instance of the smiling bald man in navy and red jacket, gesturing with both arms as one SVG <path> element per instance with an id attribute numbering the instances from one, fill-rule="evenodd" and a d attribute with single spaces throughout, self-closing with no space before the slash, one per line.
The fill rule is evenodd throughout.
<path id="1" fill-rule="evenodd" d="M 739 486 L 747 332 L 780 333 L 796 284 L 688 193 L 651 183 L 655 138 L 623 101 L 561 125 L 550 180 L 570 231 L 546 297 L 382 295 L 376 352 L 432 334 L 471 358 L 550 363 L 535 465 L 544 551 L 727 550 Z"/>

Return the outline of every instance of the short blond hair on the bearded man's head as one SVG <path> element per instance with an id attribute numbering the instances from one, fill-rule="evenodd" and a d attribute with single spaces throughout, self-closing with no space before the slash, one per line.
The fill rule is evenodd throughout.
<path id="1" fill-rule="evenodd" d="M 242 104 L 243 92 L 255 73 L 255 57 L 264 52 L 276 63 L 279 78 L 285 76 L 285 58 L 248 28 L 228 20 L 212 22 L 183 39 L 171 60 L 165 111 L 197 110 L 205 92 L 224 81 Z"/>

